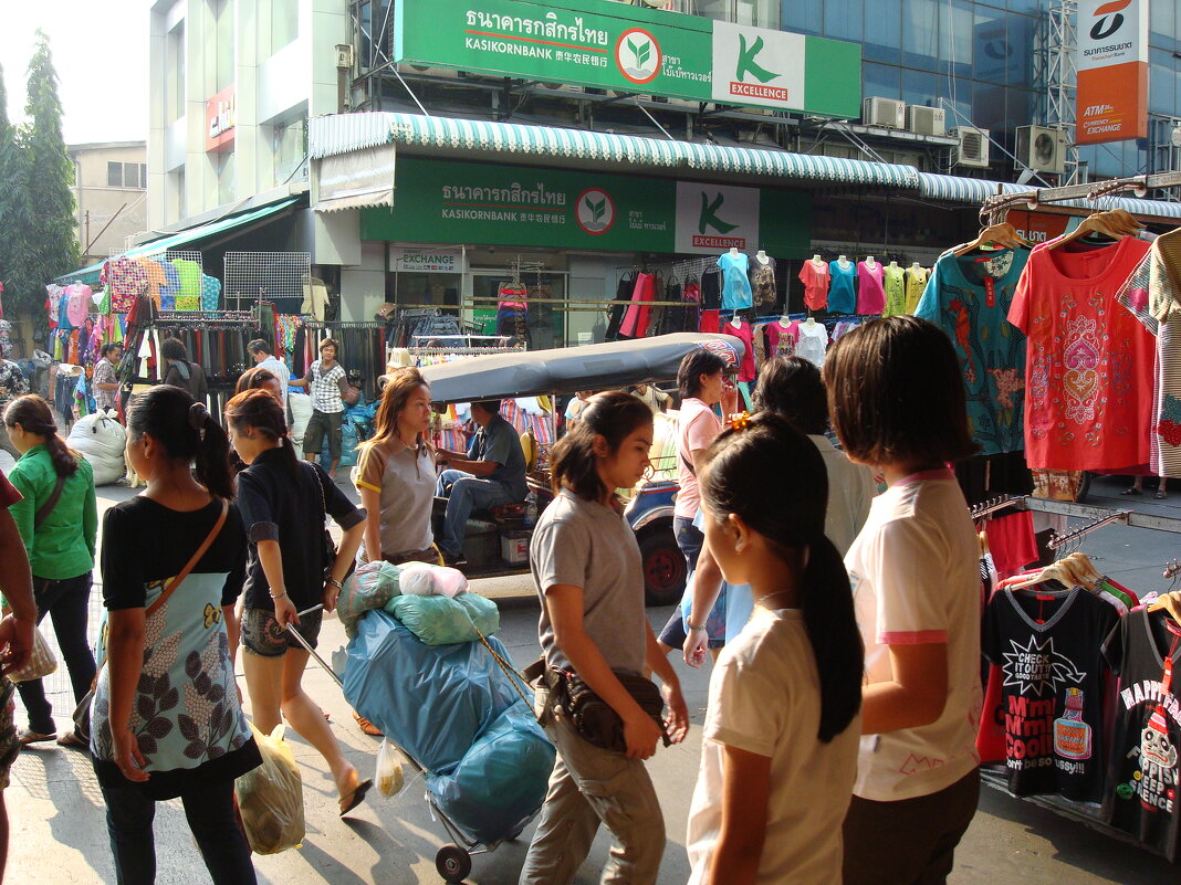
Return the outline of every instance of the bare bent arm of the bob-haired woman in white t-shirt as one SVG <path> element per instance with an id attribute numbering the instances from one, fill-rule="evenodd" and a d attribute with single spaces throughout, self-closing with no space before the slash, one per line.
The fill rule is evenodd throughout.
<path id="1" fill-rule="evenodd" d="M 947 704 L 946 643 L 890 645 L 889 661 L 894 678 L 862 690 L 862 734 L 928 726 Z"/>

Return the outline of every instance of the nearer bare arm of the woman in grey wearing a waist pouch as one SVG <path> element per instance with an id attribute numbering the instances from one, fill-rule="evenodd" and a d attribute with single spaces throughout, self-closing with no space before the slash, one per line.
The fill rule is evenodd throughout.
<path id="1" fill-rule="evenodd" d="M 554 641 L 590 690 L 624 720 L 627 758 L 647 759 L 655 753 L 660 728 L 611 671 L 582 623 L 582 604 L 580 586 L 554 584 L 546 591 L 546 611 L 554 627 Z"/>

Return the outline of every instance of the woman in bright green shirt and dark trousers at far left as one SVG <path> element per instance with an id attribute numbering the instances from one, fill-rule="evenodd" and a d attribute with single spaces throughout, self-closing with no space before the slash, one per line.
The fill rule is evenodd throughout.
<path id="1" fill-rule="evenodd" d="M 86 637 L 98 533 L 94 474 L 85 458 L 66 448 L 40 396 L 28 394 L 9 402 L 4 422 L 21 453 L 8 480 L 24 500 L 13 504 L 9 512 L 28 551 L 37 621 L 46 615 L 53 618 L 74 701 L 80 701 L 94 678 L 94 656 Z M 17 688 L 28 710 L 28 728 L 20 734 L 20 742 L 52 741 L 57 728 L 41 680 L 21 682 Z M 86 746 L 72 729 L 58 738 L 58 743 Z"/>

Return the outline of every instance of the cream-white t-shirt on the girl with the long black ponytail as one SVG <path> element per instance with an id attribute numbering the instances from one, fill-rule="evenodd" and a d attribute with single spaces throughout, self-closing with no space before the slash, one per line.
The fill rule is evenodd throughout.
<path id="1" fill-rule="evenodd" d="M 709 880 L 722 834 L 723 745 L 771 760 L 766 839 L 756 881 L 839 883 L 841 824 L 856 773 L 861 717 L 828 743 L 816 736 L 820 674 L 800 609 L 756 609 L 718 657 L 709 704 L 685 841 L 690 885 Z"/>

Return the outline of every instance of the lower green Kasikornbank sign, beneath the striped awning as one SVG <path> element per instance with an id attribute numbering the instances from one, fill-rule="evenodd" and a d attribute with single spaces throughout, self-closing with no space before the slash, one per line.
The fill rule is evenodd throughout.
<path id="1" fill-rule="evenodd" d="M 361 238 L 789 258 L 810 254 L 810 209 L 796 191 L 403 158 Z"/>

